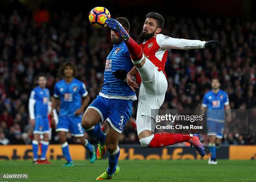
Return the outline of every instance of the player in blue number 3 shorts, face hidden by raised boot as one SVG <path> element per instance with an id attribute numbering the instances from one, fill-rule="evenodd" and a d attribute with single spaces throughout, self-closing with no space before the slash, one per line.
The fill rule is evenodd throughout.
<path id="1" fill-rule="evenodd" d="M 128 20 L 117 18 L 129 30 Z M 111 31 L 112 51 L 106 59 L 104 83 L 97 98 L 86 109 L 82 118 L 82 126 L 88 134 L 98 139 L 97 158 L 101 159 L 108 150 L 108 169 L 98 179 L 111 179 L 119 172 L 117 166 L 120 149 L 118 141 L 126 122 L 132 114 L 135 92 L 124 81 L 127 73 L 133 68 L 129 51 L 125 42 Z M 123 75 L 123 80 L 118 79 Z M 108 133 L 105 135 L 100 122 L 108 122 Z"/>

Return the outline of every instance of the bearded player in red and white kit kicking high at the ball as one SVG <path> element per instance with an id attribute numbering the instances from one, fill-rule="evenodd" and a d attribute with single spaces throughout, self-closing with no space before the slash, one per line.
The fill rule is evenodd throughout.
<path id="1" fill-rule="evenodd" d="M 167 132 L 154 134 L 156 116 L 164 102 L 167 90 L 164 72 L 167 49 L 210 48 L 213 45 L 221 46 L 222 41 L 205 42 L 162 35 L 160 32 L 164 26 L 164 18 L 158 13 L 148 13 L 141 33 L 144 42 L 138 45 L 118 21 L 110 18 L 106 22 L 111 30 L 125 40 L 135 66 L 127 74 L 127 83 L 133 90 L 139 86 L 136 124 L 141 145 L 143 147 L 165 147 L 179 142 L 189 142 L 200 155 L 204 156 L 205 151 L 197 134 L 171 134 Z M 132 80 L 132 76 L 135 74 L 137 83 Z"/>

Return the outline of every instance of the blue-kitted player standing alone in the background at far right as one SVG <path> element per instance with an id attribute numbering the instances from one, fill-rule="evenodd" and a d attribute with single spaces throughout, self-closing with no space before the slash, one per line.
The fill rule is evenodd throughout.
<path id="1" fill-rule="evenodd" d="M 216 147 L 219 147 L 223 137 L 225 113 L 226 120 L 231 121 L 231 111 L 229 106 L 228 94 L 220 90 L 218 78 L 212 79 L 212 90 L 205 94 L 201 109 L 207 109 L 207 130 L 210 138 L 211 157 L 208 164 L 218 164 L 216 161 Z"/>

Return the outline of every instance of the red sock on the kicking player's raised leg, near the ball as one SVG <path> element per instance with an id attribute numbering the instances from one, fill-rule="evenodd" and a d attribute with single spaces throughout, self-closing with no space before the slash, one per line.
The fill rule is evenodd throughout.
<path id="1" fill-rule="evenodd" d="M 125 41 L 125 44 L 131 54 L 133 61 L 139 61 L 143 57 L 141 46 L 138 45 L 131 37 Z"/>

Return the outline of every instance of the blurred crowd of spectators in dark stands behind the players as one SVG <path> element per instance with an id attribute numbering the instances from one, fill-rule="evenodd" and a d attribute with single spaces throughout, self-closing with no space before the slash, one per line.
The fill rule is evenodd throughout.
<path id="1" fill-rule="evenodd" d="M 88 22 L 87 15 L 95 6 L 108 8 L 112 18 L 127 17 L 131 36 L 137 42 L 141 41 L 138 35 L 146 13 L 151 11 L 164 16 L 164 35 L 224 41 L 221 49 L 169 50 L 165 69 L 168 90 L 162 108 L 200 108 L 203 94 L 210 89 L 210 79 L 218 76 L 221 88 L 228 92 L 231 109 L 255 109 L 255 1 L 158 0 L 153 6 L 154 3 L 1 1 L 0 144 L 31 144 L 33 124 L 28 118 L 28 96 L 36 86 L 38 73 L 46 73 L 47 87 L 53 95 L 54 83 L 60 79 L 57 69 L 64 61 L 72 61 L 79 70 L 77 78 L 86 84 L 91 101 L 95 99 L 101 90 L 105 58 L 112 48 L 109 30 L 95 29 Z M 136 104 L 120 144 L 139 144 Z M 68 142 L 74 143 L 70 134 Z M 54 132 L 51 144 L 58 144 Z M 225 134 L 223 144 L 253 145 L 256 136 Z"/>

